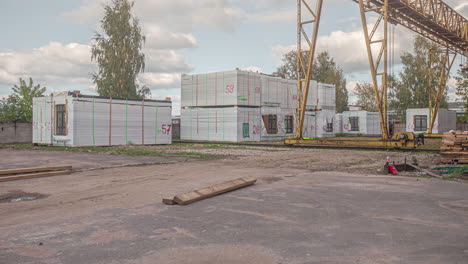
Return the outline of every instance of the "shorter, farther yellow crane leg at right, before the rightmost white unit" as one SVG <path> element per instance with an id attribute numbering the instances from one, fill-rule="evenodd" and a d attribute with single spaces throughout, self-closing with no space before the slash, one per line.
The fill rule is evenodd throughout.
<path id="1" fill-rule="evenodd" d="M 429 51 L 429 127 L 427 132 L 432 134 L 440 103 L 447 87 L 447 80 L 457 56 L 447 47 L 438 45 L 436 49 Z M 436 81 L 435 87 L 432 84 Z"/>

